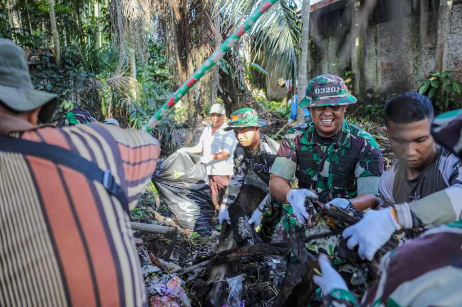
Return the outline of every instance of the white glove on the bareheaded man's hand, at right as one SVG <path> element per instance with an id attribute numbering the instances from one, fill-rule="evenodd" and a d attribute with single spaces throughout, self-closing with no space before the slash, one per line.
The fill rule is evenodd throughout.
<path id="1" fill-rule="evenodd" d="M 346 228 L 342 235 L 346 239 L 349 238 L 347 242 L 349 249 L 354 249 L 356 245 L 359 245 L 359 257 L 372 260 L 375 252 L 387 243 L 395 230 L 399 229 L 391 208 L 385 208 L 366 211 L 363 219 Z"/>

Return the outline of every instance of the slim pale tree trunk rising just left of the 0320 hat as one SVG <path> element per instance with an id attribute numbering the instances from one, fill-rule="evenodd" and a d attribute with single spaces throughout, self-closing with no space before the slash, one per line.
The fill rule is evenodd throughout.
<path id="1" fill-rule="evenodd" d="M 298 64 L 298 84 L 300 89 L 298 89 L 298 102 L 302 101 L 305 98 L 305 86 L 308 85 L 308 41 L 310 39 L 310 0 L 303 0 L 302 6 L 302 55 L 300 55 L 300 60 Z M 294 82 L 295 83 L 295 82 Z M 296 86 L 296 83 L 292 86 Z M 305 123 L 305 109 L 300 108 L 297 105 L 297 124 Z"/>

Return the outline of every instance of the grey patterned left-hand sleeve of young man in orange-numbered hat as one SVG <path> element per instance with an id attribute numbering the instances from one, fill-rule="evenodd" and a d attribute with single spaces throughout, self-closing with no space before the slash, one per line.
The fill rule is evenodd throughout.
<path id="1" fill-rule="evenodd" d="M 244 180 L 249 171 L 249 165 L 244 158 L 244 148 L 242 145 L 237 145 L 234 150 L 234 168 L 233 177 L 226 187 L 225 194 L 223 195 L 222 204 L 231 206 L 236 200 L 240 192 L 240 187 L 244 184 Z"/>

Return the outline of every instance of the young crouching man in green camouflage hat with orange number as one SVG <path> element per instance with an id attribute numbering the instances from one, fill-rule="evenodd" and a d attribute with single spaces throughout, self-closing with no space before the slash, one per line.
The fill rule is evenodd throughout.
<path id="1" fill-rule="evenodd" d="M 258 119 L 257 113 L 252 108 L 242 108 L 231 114 L 231 125 L 225 130 L 234 129 L 239 144 L 234 150 L 233 176 L 220 205 L 218 215 L 220 224 L 224 220 L 231 224 L 228 207 L 236 200 L 249 169 L 266 184 L 270 181 L 270 170 L 279 143 L 259 132 L 259 127 L 264 125 L 266 121 Z M 268 194 L 253 212 L 249 224 L 256 227 L 263 216 L 259 235 L 265 242 L 271 241 L 274 229 L 280 221 L 281 211 L 282 204 Z"/>

